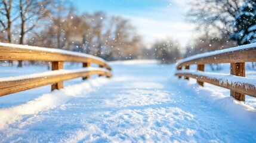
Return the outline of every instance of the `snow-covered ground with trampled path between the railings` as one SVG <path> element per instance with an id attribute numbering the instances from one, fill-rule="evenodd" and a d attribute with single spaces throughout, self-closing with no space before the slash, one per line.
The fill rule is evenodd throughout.
<path id="1" fill-rule="evenodd" d="M 0 142 L 255 142 L 256 100 L 178 80 L 175 64 L 111 63 L 113 78 L 69 80 L 0 97 Z M 81 65 L 66 66 L 66 69 Z M 221 73 L 229 73 L 223 64 Z M 192 66 L 192 69 L 195 68 Z M 256 71 L 246 67 L 247 77 Z M 0 77 L 47 67 L 0 67 Z M 206 67 L 206 71 L 211 71 Z"/>

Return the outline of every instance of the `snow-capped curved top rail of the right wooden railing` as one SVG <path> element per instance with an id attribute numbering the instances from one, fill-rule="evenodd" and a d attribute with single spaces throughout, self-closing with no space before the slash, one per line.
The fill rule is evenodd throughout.
<path id="1" fill-rule="evenodd" d="M 256 43 L 236 46 L 234 48 L 205 52 L 184 58 L 177 68 L 190 64 L 239 63 L 256 61 Z"/>

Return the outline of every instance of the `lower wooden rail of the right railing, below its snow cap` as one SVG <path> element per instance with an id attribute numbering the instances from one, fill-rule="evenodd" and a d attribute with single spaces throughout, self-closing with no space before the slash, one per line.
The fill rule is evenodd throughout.
<path id="1" fill-rule="evenodd" d="M 212 85 L 221 86 L 223 88 L 231 89 L 232 91 L 239 92 L 241 94 L 246 94 L 251 97 L 256 97 L 256 87 L 249 83 L 245 85 L 241 85 L 238 83 L 223 83 L 221 82 L 221 79 L 211 79 L 207 76 L 201 76 L 201 75 L 192 74 L 192 73 L 176 73 L 175 75 L 189 76 L 189 77 L 198 79 L 201 82 L 208 82 L 208 83 L 211 83 Z"/>

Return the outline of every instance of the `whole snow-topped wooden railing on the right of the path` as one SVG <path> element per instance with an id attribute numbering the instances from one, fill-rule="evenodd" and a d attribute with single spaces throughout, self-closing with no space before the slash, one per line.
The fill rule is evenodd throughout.
<path id="1" fill-rule="evenodd" d="M 256 97 L 256 79 L 245 77 L 245 62 L 254 61 L 256 61 L 256 43 L 185 58 L 178 63 L 175 75 L 179 78 L 184 76 L 185 79 L 195 78 L 201 86 L 203 86 L 203 82 L 208 82 L 230 89 L 232 97 L 239 101 L 245 101 L 245 95 Z M 205 64 L 214 63 L 230 63 L 230 74 L 203 72 Z M 198 65 L 198 71 L 189 70 L 189 66 L 192 64 Z"/>

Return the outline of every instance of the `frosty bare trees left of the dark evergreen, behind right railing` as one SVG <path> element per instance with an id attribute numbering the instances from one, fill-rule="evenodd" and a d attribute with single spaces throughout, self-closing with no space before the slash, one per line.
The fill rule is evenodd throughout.
<path id="1" fill-rule="evenodd" d="M 199 0 L 190 2 L 187 19 L 196 24 L 199 36 L 187 45 L 185 57 L 236 46 L 230 41 L 236 15 L 246 0 Z"/>

